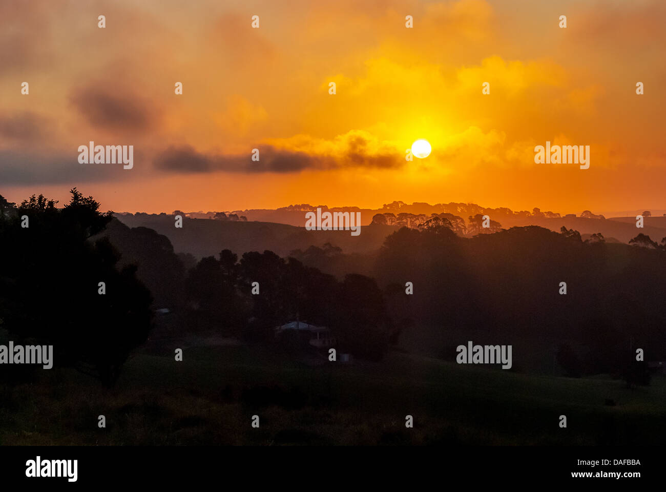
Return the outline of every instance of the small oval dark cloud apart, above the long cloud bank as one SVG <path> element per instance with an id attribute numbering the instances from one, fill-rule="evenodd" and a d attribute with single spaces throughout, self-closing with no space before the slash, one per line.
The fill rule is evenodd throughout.
<path id="1" fill-rule="evenodd" d="M 76 89 L 71 103 L 91 125 L 110 130 L 145 131 L 153 126 L 155 110 L 148 101 L 125 91 L 91 84 Z"/>

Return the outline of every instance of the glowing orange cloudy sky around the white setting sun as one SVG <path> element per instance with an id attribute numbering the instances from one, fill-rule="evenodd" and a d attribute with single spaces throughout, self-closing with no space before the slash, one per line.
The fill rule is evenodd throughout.
<path id="1" fill-rule="evenodd" d="M 35 0 L 0 18 L 10 201 L 666 208 L 661 0 Z M 419 138 L 432 154 L 405 161 Z M 134 169 L 79 164 L 91 140 L 134 145 Z M 545 141 L 589 145 L 589 169 L 535 164 Z"/>

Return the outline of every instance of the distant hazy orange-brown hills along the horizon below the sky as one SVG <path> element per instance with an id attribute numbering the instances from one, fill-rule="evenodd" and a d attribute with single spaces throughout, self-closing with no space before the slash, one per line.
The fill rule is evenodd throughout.
<path id="1" fill-rule="evenodd" d="M 350 231 L 307 231 L 305 214 L 308 211 L 360 212 L 364 226 L 358 236 Z M 190 253 L 196 258 L 216 255 L 223 248 L 242 254 L 246 251 L 274 251 L 278 255 L 289 255 L 291 251 L 305 251 L 310 246 L 324 247 L 330 243 L 348 254 L 372 253 L 382 247 L 386 236 L 400 227 L 419 227 L 432 217 L 442 215 L 458 221 L 462 229 L 459 235 L 471 237 L 479 229 L 471 227 L 469 217 L 488 215 L 503 229 L 538 225 L 559 232 L 561 227 L 579 231 L 583 239 L 601 233 L 607 241 L 628 243 L 639 233 L 649 235 L 653 241 L 666 237 L 666 217 L 645 217 L 645 227 L 636 227 L 635 216 L 605 218 L 591 211 L 583 211 L 579 216 L 538 208 L 530 211 L 512 211 L 505 207 L 496 209 L 482 207 L 474 203 L 428 203 L 407 204 L 394 201 L 381 209 L 361 209 L 359 207 L 327 207 L 308 204 L 290 205 L 278 209 L 248 209 L 243 211 L 198 211 L 174 214 L 119 213 L 116 217 L 129 227 L 149 227 L 166 235 L 178 253 Z M 174 227 L 174 215 L 183 217 L 182 229 Z M 372 225 L 370 225 L 372 223 Z M 482 232 L 485 232 L 482 230 Z"/>

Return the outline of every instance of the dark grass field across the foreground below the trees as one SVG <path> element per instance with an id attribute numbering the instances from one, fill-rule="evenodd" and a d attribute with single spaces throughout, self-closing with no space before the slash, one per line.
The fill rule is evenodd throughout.
<path id="1" fill-rule="evenodd" d="M 666 443 L 663 377 L 627 389 L 603 377 L 528 375 L 398 352 L 382 363 L 308 365 L 266 348 L 219 346 L 185 349 L 181 362 L 139 353 L 111 390 L 73 369 L 35 378 L 0 385 L 0 444 Z"/>

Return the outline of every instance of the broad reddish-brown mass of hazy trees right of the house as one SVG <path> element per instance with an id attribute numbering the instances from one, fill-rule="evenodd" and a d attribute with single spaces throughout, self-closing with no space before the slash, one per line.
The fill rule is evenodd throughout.
<path id="1" fill-rule="evenodd" d="M 576 347 L 584 362 L 577 371 L 567 349 L 560 356 L 571 375 L 621 375 L 619 355 L 629 335 L 641 346 L 660 347 L 655 359 L 666 356 L 666 306 L 659 297 L 666 257 L 601 239 L 583 242 L 572 229 L 558 234 L 537 226 L 472 238 L 400 229 L 386 238 L 372 275 L 382 287 L 394 285 L 395 296 L 386 291 L 391 303 L 408 298 L 395 301 L 399 314 L 389 312 L 396 324 L 414 320 L 410 345 L 432 347 L 424 327 L 478 329 L 492 340 L 521 339 L 535 351 L 547 338 L 556 347 Z M 405 295 L 406 281 L 418 295 Z M 567 295 L 559 294 L 562 281 Z M 571 295 L 581 292 L 585 303 Z"/>

